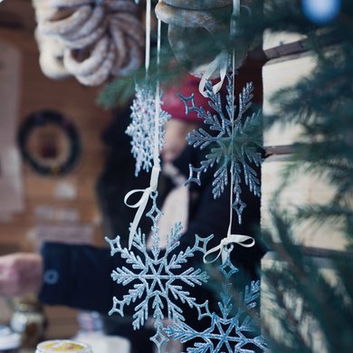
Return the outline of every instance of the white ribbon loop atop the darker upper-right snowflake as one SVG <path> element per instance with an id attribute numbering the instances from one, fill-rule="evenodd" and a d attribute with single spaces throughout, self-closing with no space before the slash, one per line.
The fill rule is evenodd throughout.
<path id="1" fill-rule="evenodd" d="M 221 52 L 212 62 L 208 64 L 207 69 L 198 85 L 198 90 L 205 98 L 207 98 L 207 94 L 205 92 L 206 81 L 211 80 L 211 77 L 215 72 L 219 72 L 220 81 L 213 86 L 212 91 L 217 93 L 221 90 L 228 69 L 228 56 L 228 52 Z"/>

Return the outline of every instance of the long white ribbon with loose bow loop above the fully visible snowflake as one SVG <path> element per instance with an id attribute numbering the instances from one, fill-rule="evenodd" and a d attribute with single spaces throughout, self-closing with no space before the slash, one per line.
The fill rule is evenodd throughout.
<path id="1" fill-rule="evenodd" d="M 147 1 L 147 13 L 149 8 L 149 20 L 147 18 L 146 21 L 146 38 L 150 38 L 150 0 Z M 149 32 L 149 33 L 148 33 Z M 157 21 L 157 68 L 159 67 L 159 57 L 160 57 L 160 37 L 161 37 L 161 22 Z M 148 71 L 149 67 L 149 52 L 150 52 L 150 42 L 146 41 L 147 48 L 146 48 L 146 70 Z M 157 69 L 158 70 L 158 69 Z M 154 134 L 154 150 L 153 150 L 153 167 L 151 172 L 151 178 L 149 181 L 149 186 L 146 189 L 134 189 L 129 191 L 129 193 L 125 196 L 124 202 L 125 205 L 129 206 L 130 208 L 138 208 L 134 220 L 130 226 L 129 230 L 129 250 L 131 249 L 132 241 L 134 239 L 134 235 L 138 229 L 138 223 L 141 219 L 142 215 L 145 212 L 146 206 L 148 205 L 148 199 L 151 193 L 157 190 L 158 184 L 158 176 L 160 173 L 160 159 L 159 159 L 159 109 L 160 109 L 160 93 L 159 93 L 159 72 L 157 71 L 157 82 L 156 82 L 156 111 L 155 111 L 155 134 Z M 142 193 L 142 196 L 138 200 L 136 204 L 129 204 L 129 197 L 137 194 Z"/>

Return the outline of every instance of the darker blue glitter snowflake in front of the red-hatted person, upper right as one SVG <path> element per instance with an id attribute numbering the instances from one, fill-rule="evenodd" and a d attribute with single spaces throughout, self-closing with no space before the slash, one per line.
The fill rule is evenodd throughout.
<path id="1" fill-rule="evenodd" d="M 208 148 L 205 160 L 201 166 L 189 165 L 190 175 L 186 184 L 195 182 L 201 185 L 201 174 L 209 167 L 216 165 L 213 181 L 214 197 L 219 197 L 224 192 L 224 186 L 228 185 L 228 168 L 233 170 L 234 210 L 238 215 L 239 224 L 242 223 L 242 213 L 246 206 L 241 198 L 242 171 L 246 186 L 255 196 L 260 196 L 260 180 L 252 165 L 259 167 L 262 163 L 262 132 L 260 111 L 245 118 L 245 113 L 252 106 L 253 84 L 247 83 L 239 94 L 238 107 L 234 104 L 233 74 L 227 75 L 227 95 L 225 112 L 222 106 L 221 94 L 214 93 L 211 81 L 205 83 L 205 94 L 209 106 L 215 110 L 215 114 L 205 111 L 202 107 L 196 107 L 194 94 L 190 97 L 179 97 L 184 101 L 186 114 L 196 111 L 197 116 L 204 119 L 205 125 L 215 134 L 200 128 L 193 130 L 187 136 L 188 144 L 195 148 Z M 233 109 L 232 106 L 234 105 Z M 236 116 L 233 116 L 233 111 Z"/>

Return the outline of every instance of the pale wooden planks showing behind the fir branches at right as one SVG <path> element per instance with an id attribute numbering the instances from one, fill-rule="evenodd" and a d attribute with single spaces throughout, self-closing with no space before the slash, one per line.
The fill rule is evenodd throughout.
<path id="1" fill-rule="evenodd" d="M 275 114 L 278 111 L 276 102 L 272 100 L 275 91 L 294 85 L 307 77 L 315 68 L 316 59 L 311 52 L 298 51 L 305 43 L 305 38 L 295 33 L 266 33 L 264 37 L 264 52 L 270 59 L 262 69 L 263 79 L 263 112 L 264 115 Z M 293 50 L 291 52 L 291 49 Z M 318 176 L 297 170 L 295 174 L 288 175 L 291 166 L 291 145 L 303 142 L 301 128 L 295 124 L 276 124 L 272 129 L 264 131 L 264 145 L 271 157 L 266 158 L 262 165 L 262 229 L 276 234 L 272 224 L 273 197 L 281 187 L 283 177 L 287 177 L 286 185 L 281 189 L 276 202 L 281 210 L 291 215 L 296 207 L 308 204 L 327 204 L 335 193 L 334 187 L 329 185 L 324 176 Z M 310 142 L 310 141 L 305 141 Z M 329 278 L 335 279 L 335 272 L 327 260 L 328 253 L 334 251 L 344 252 L 346 242 L 343 234 L 336 224 L 313 224 L 310 222 L 294 224 L 291 231 L 294 241 L 303 246 L 310 258 L 318 263 L 320 272 Z M 273 236 L 273 242 L 280 239 Z M 281 269 L 286 274 L 287 263 L 279 261 L 275 253 L 267 253 L 262 259 L 262 269 Z M 273 298 L 273 289 L 265 280 L 262 280 L 262 322 L 271 328 L 274 337 L 283 339 L 281 321 L 279 320 L 281 308 Z M 291 301 L 292 308 L 301 308 L 301 299 L 293 298 L 291 293 L 283 293 L 286 300 Z M 299 312 L 299 311 L 298 311 Z M 326 352 L 324 340 L 314 320 L 303 323 L 301 327 L 303 337 L 310 339 L 313 351 Z"/>

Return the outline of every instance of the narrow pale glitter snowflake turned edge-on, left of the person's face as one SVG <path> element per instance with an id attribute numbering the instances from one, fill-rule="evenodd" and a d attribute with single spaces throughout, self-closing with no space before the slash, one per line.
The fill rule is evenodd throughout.
<path id="1" fill-rule="evenodd" d="M 136 159 L 135 176 L 141 169 L 149 171 L 153 162 L 156 91 L 148 84 L 136 85 L 136 95 L 131 106 L 131 123 L 126 133 L 131 137 L 131 153 Z M 164 126 L 170 114 L 159 106 L 159 149 L 164 145 Z"/>

